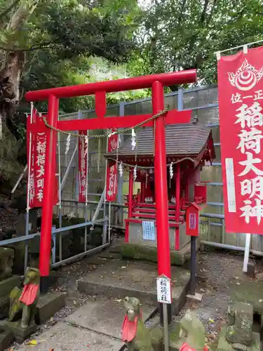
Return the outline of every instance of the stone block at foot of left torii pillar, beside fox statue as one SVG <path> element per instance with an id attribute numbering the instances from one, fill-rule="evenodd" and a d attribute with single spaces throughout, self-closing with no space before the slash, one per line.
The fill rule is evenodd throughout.
<path id="1" fill-rule="evenodd" d="M 56 312 L 65 307 L 65 294 L 51 292 L 39 296 L 39 302 L 36 306 L 36 324 L 42 324 L 50 319 Z"/>

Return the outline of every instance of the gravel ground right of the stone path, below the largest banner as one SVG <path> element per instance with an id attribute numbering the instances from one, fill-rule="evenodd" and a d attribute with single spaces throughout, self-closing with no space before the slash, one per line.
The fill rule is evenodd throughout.
<path id="1" fill-rule="evenodd" d="M 213 251 L 202 253 L 198 257 L 198 279 L 196 293 L 201 293 L 201 302 L 187 300 L 177 316 L 179 322 L 187 310 L 192 310 L 203 322 L 207 333 L 207 342 L 213 343 L 217 339 L 221 326 L 226 322 L 227 307 L 231 303 L 228 285 L 231 279 L 249 280 L 242 272 L 243 254 L 222 253 Z M 257 260 L 256 274 L 258 279 L 263 276 L 262 261 Z M 147 322 L 147 326 L 158 323 L 159 316 Z"/>

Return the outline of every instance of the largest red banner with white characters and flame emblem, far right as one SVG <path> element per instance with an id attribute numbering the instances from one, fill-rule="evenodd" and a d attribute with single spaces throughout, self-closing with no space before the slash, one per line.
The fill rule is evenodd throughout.
<path id="1" fill-rule="evenodd" d="M 218 61 L 227 232 L 263 234 L 263 47 Z"/>

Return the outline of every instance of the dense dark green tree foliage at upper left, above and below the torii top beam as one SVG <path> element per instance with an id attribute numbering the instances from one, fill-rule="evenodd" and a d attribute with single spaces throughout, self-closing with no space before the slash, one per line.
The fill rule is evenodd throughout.
<path id="1" fill-rule="evenodd" d="M 95 81 L 90 66 L 96 57 L 103 59 L 102 65 L 118 67 L 112 77 L 117 79 L 119 64 L 135 49 L 139 18 L 137 0 L 0 0 L 2 65 L 8 53 L 26 53 L 20 91 Z M 112 95 L 109 103 L 120 98 Z M 92 104 L 92 97 L 67 99 L 60 110 L 72 112 Z M 45 107 L 46 102 L 39 104 Z"/>

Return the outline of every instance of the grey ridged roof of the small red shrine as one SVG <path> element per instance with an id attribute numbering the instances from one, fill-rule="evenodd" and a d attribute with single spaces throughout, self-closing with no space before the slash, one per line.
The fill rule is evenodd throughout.
<path id="1" fill-rule="evenodd" d="M 131 136 L 130 136 L 131 138 Z M 132 150 L 131 140 L 119 148 L 119 156 L 133 157 L 136 155 L 151 156 L 154 154 L 154 135 L 152 127 L 144 127 L 137 131 L 136 150 Z M 198 156 L 203 152 L 203 148 L 209 144 L 212 145 L 212 155 L 215 154 L 213 147 L 213 137 L 210 128 L 197 123 L 187 124 L 168 124 L 166 126 L 166 155 L 174 157 Z M 210 146 L 211 148 L 211 146 Z M 116 151 L 108 152 L 105 157 L 115 157 Z M 214 157 L 213 157 L 214 158 Z"/>

